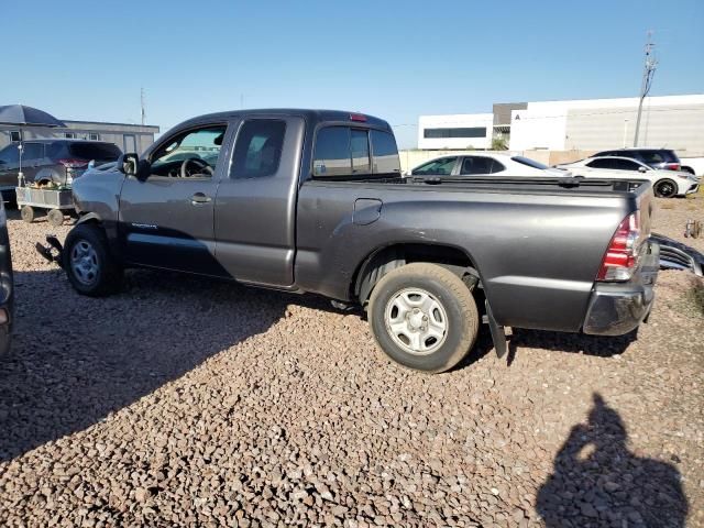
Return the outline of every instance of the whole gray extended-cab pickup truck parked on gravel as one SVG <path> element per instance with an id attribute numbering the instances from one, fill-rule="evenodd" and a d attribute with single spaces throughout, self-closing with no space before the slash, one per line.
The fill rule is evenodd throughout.
<path id="1" fill-rule="evenodd" d="M 78 179 L 53 256 L 84 295 L 152 267 L 362 306 L 389 358 L 442 372 L 481 322 L 499 354 L 505 327 L 635 329 L 658 271 L 651 197 L 644 182 L 404 178 L 383 120 L 223 112 Z"/>

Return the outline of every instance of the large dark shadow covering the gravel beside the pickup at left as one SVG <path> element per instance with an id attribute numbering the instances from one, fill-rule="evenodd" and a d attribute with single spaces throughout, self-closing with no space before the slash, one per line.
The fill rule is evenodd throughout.
<path id="1" fill-rule="evenodd" d="M 0 358 L 0 462 L 103 420 L 248 338 L 295 301 L 321 299 L 165 272 L 121 294 L 76 294 L 61 270 L 16 272 L 15 326 Z M 331 308 L 330 308 L 331 309 Z"/>

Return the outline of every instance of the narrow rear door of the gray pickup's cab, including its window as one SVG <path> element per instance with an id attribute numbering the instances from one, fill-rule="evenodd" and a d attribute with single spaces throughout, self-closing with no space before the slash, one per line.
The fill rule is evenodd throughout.
<path id="1" fill-rule="evenodd" d="M 289 286 L 305 121 L 256 116 L 238 128 L 230 170 L 216 199 L 216 256 L 238 280 Z"/>

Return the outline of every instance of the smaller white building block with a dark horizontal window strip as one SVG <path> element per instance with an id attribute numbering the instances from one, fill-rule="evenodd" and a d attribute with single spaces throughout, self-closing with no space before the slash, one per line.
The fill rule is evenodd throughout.
<path id="1" fill-rule="evenodd" d="M 458 116 L 421 116 L 418 120 L 418 148 L 490 148 L 492 146 L 494 114 L 468 113 Z M 427 129 L 484 128 L 482 138 L 425 136 Z"/>

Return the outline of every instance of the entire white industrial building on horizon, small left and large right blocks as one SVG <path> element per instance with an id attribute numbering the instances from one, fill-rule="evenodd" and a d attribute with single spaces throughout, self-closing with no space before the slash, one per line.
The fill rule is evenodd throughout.
<path id="1" fill-rule="evenodd" d="M 493 113 L 421 116 L 418 148 L 491 148 L 504 136 L 510 151 L 598 151 L 632 146 L 638 98 L 494 105 Z M 704 95 L 648 97 L 638 146 L 704 156 Z"/>

